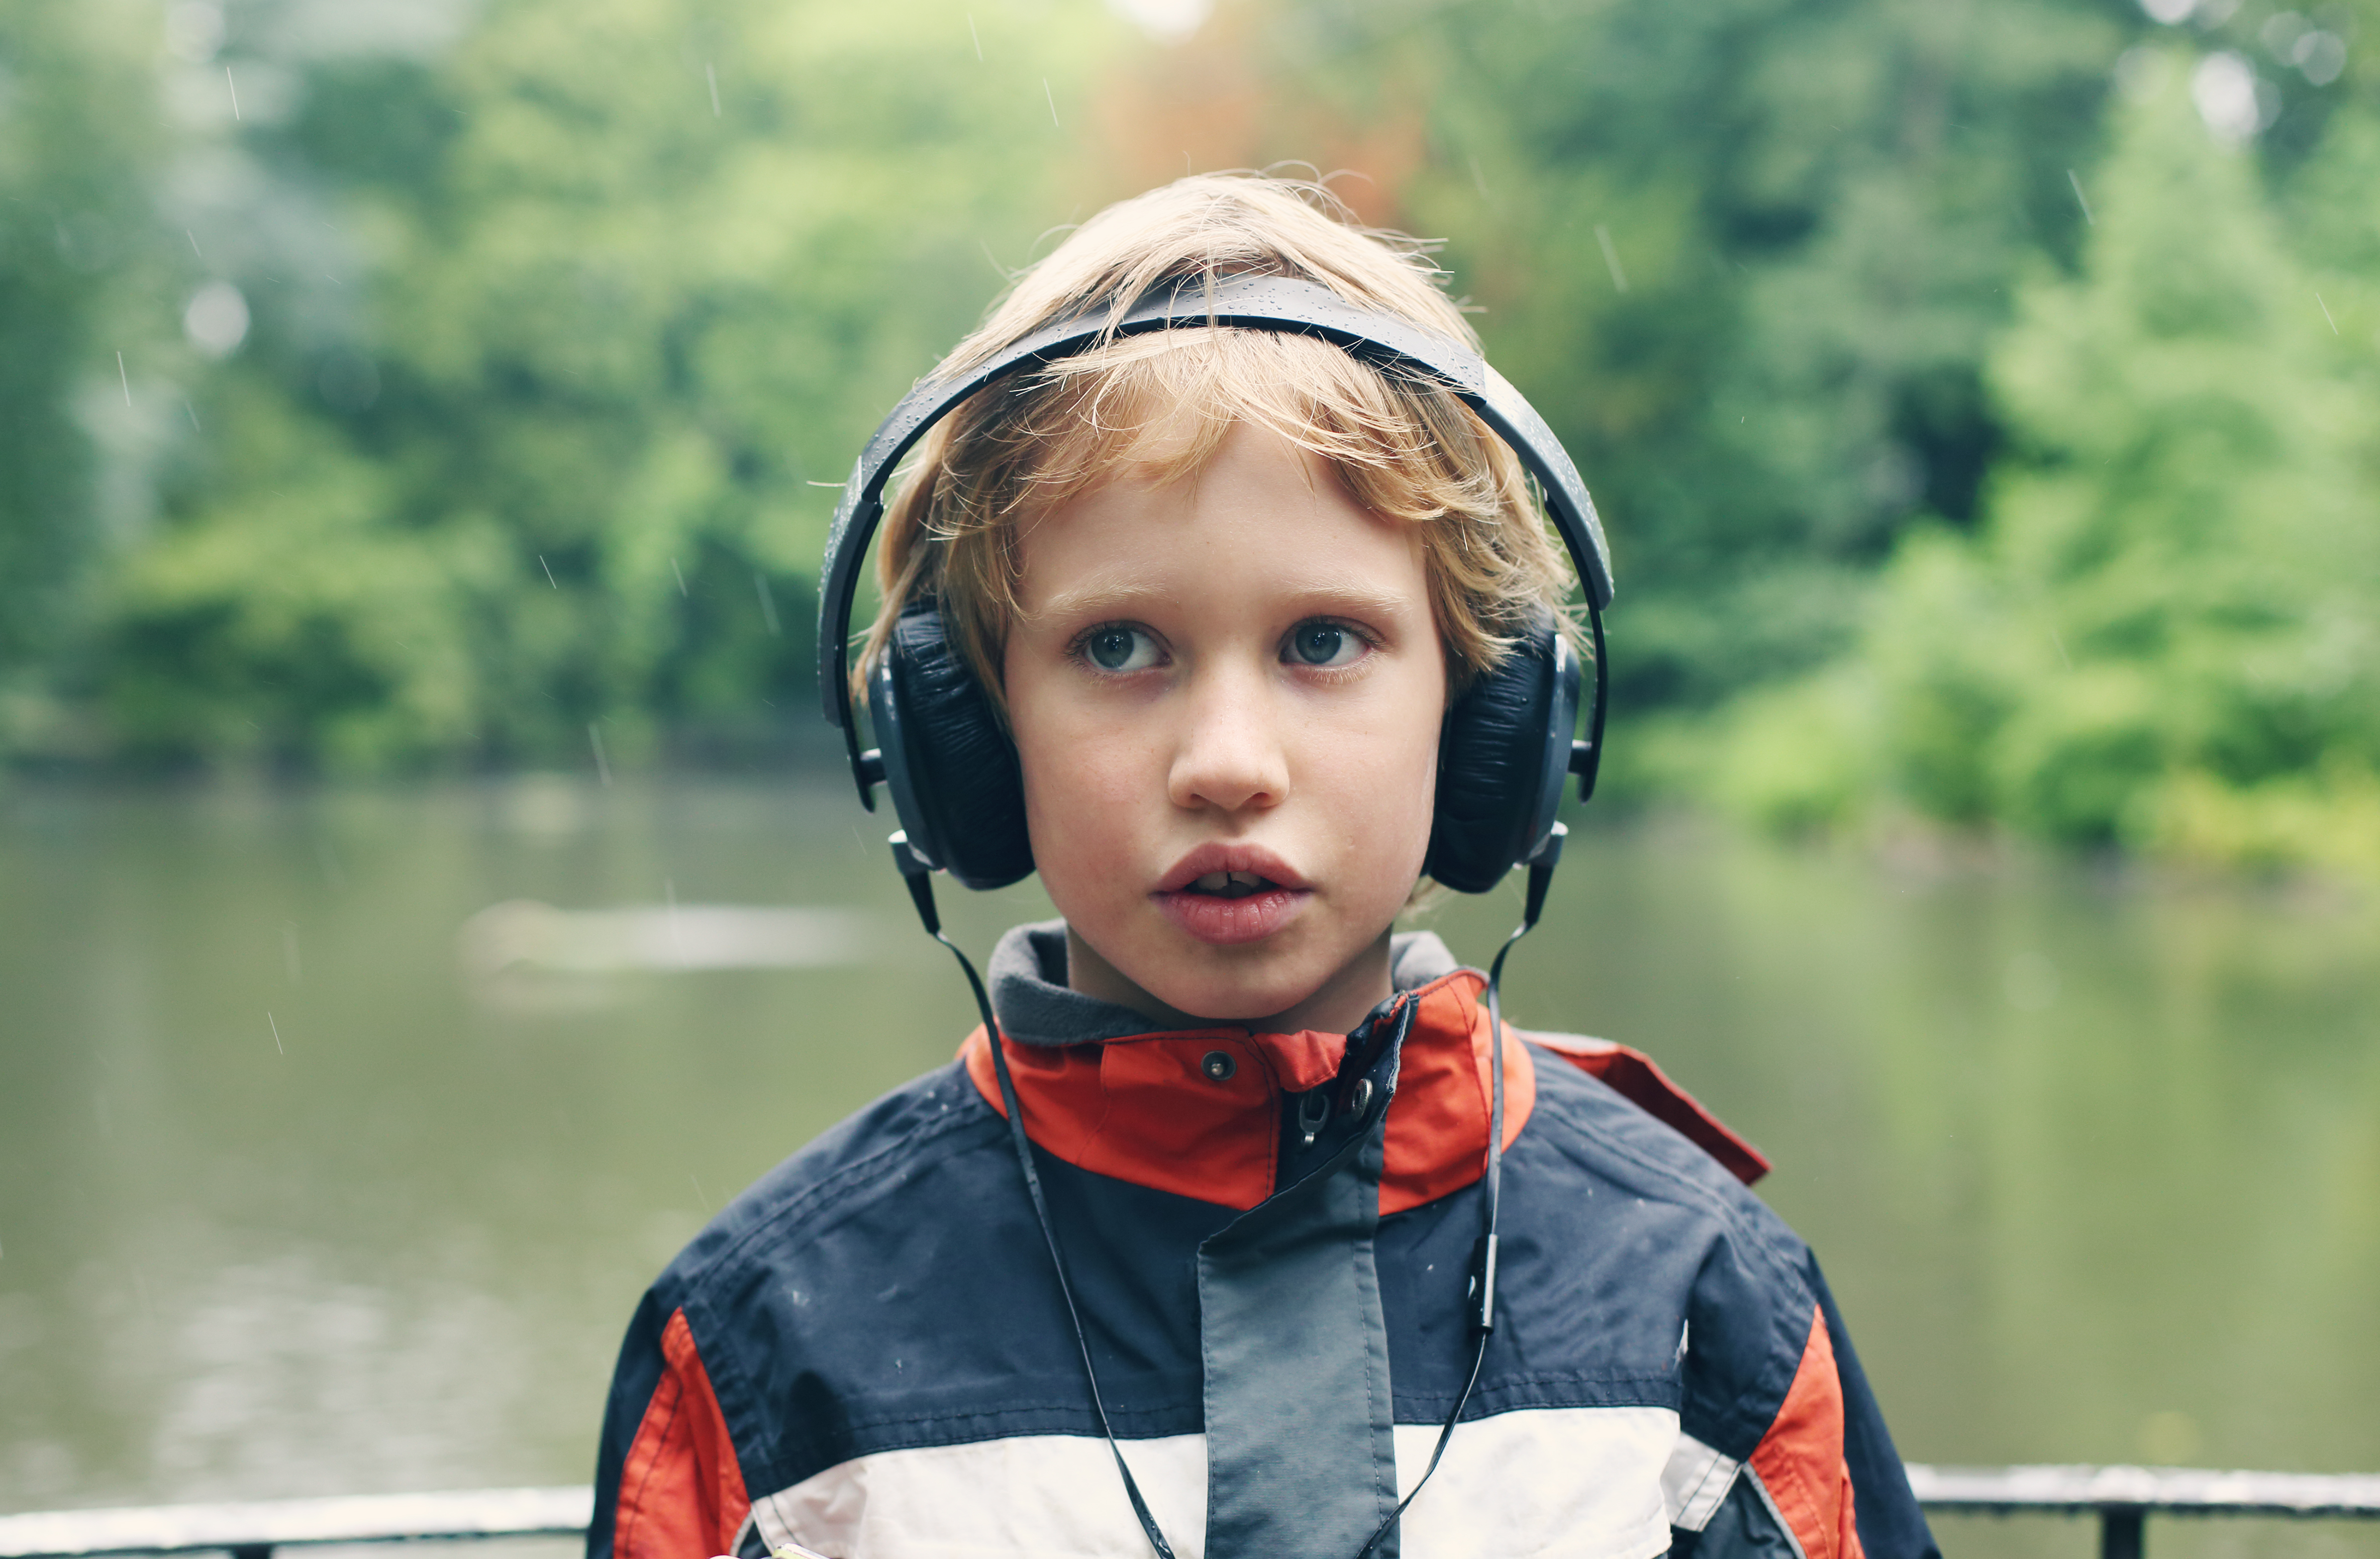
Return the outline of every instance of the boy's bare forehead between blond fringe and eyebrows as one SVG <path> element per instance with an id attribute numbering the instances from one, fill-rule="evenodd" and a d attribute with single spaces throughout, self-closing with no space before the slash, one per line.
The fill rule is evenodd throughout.
<path id="1" fill-rule="evenodd" d="M 1019 531 L 1026 616 L 1133 602 L 1354 602 L 1426 612 L 1416 526 L 1364 509 L 1326 459 L 1235 424 L 1195 471 L 1152 459 L 1035 514 Z"/>

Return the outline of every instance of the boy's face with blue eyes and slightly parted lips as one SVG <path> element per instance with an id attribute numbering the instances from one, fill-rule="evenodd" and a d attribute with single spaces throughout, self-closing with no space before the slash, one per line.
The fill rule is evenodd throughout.
<path id="1" fill-rule="evenodd" d="M 1352 1028 L 1430 838 L 1447 671 L 1418 536 L 1240 424 L 1195 478 L 1111 481 L 1019 540 L 1007 702 L 1071 983 Z"/>

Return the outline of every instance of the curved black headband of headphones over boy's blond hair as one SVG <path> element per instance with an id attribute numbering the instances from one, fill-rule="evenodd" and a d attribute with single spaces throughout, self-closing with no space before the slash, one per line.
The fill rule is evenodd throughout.
<path id="1" fill-rule="evenodd" d="M 1245 331 L 1283 331 L 1319 336 L 1352 357 L 1380 369 L 1402 369 L 1454 390 L 1485 421 L 1545 493 L 1554 528 L 1561 531 L 1571 562 L 1578 564 L 1590 614 L 1611 605 L 1611 557 L 1595 500 L 1571 464 L 1561 440 L 1545 426 L 1537 409 L 1471 348 L 1407 319 L 1361 309 L 1330 288 L 1290 276 L 1230 276 L 1221 281 L 1180 281 L 1133 305 L 1123 319 L 1076 314 L 1033 331 L 1004 352 L 976 364 L 957 378 L 919 383 L 892 414 L 883 419 L 866 450 L 852 464 L 835 505 L 835 524 L 826 536 L 826 569 L 819 578 L 819 697 L 826 719 L 843 728 L 859 795 L 873 809 L 871 764 L 862 762 L 859 721 L 852 714 L 850 636 L 852 602 L 859 595 L 859 564 L 883 521 L 883 488 L 919 438 L 942 421 L 962 400 L 1023 369 L 1057 357 L 1071 357 L 1111 336 L 1145 331 L 1235 326 Z M 1599 636 L 1597 636 L 1599 638 Z M 1597 681 L 1602 678 L 1602 655 Z M 1602 702 L 1597 700 L 1597 726 Z"/>

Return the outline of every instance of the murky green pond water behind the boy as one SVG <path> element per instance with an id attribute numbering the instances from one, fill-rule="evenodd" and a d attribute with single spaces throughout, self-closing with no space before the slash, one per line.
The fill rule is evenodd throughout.
<path id="1" fill-rule="evenodd" d="M 0 795 L 0 1509 L 583 1480 L 659 1264 L 973 1021 L 883 828 L 823 781 Z M 978 954 L 1047 914 L 942 897 Z M 2380 1469 L 2370 902 L 1580 828 L 1507 1012 L 1775 1159 L 1906 1457 Z"/>

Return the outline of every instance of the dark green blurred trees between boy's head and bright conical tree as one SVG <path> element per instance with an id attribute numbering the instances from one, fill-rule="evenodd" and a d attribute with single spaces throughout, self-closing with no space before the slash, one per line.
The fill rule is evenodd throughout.
<path id="1" fill-rule="evenodd" d="M 2082 228 L 2066 169 L 2137 12 L 1478 0 L 1433 26 L 1414 219 L 1606 512 L 1621 707 L 1847 650 L 1899 528 L 1973 516 L 1983 362 L 2025 262 Z"/>

